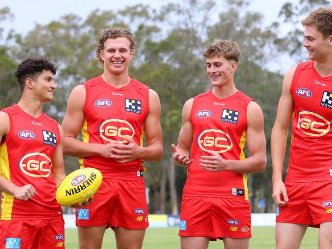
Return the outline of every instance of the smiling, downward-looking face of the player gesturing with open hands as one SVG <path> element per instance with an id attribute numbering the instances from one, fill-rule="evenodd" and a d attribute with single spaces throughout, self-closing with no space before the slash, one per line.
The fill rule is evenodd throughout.
<path id="1" fill-rule="evenodd" d="M 206 58 L 206 72 L 214 87 L 224 86 L 229 82 L 233 82 L 236 67 L 238 67 L 237 62 L 227 60 L 222 55 Z"/>

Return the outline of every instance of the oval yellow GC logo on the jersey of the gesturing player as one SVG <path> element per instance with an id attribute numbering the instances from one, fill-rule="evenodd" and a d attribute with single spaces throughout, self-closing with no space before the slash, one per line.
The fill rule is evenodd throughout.
<path id="1" fill-rule="evenodd" d="M 217 129 L 203 131 L 201 134 L 199 134 L 197 143 L 199 147 L 205 152 L 213 151 L 216 153 L 224 153 L 233 147 L 229 135 Z"/>

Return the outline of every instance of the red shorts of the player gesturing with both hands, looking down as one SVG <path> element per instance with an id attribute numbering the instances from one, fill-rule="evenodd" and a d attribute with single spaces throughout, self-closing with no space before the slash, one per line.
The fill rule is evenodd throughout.
<path id="1" fill-rule="evenodd" d="M 249 201 L 237 198 L 184 196 L 181 203 L 180 236 L 210 240 L 251 237 Z"/>

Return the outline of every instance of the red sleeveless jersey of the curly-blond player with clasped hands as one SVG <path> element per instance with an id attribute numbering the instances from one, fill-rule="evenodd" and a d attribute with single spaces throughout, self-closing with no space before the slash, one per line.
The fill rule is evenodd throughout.
<path id="1" fill-rule="evenodd" d="M 101 75 L 85 83 L 85 120 L 82 139 L 86 143 L 127 143 L 127 136 L 143 146 L 143 124 L 149 113 L 148 86 L 131 78 L 122 88 L 107 84 Z M 125 164 L 102 156 L 80 159 L 81 167 L 99 169 L 104 178 L 143 181 L 143 161 L 137 159 Z"/>

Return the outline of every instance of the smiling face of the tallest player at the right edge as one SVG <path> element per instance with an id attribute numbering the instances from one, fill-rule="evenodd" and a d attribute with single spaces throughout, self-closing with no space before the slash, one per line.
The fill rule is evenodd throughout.
<path id="1" fill-rule="evenodd" d="M 303 46 L 306 48 L 309 59 L 324 61 L 332 53 L 332 36 L 326 38 L 313 26 L 305 26 Z"/>

